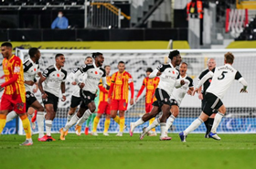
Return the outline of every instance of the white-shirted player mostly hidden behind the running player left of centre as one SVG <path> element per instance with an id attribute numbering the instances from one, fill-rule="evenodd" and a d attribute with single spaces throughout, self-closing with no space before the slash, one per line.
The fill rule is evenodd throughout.
<path id="1" fill-rule="evenodd" d="M 92 63 L 92 58 L 91 57 L 86 57 L 84 60 L 84 64 L 91 64 Z M 80 105 L 80 87 L 77 85 L 77 82 L 74 79 L 74 71 L 72 71 L 69 76 L 68 80 L 71 84 L 70 90 L 72 90 L 72 97 L 71 97 L 71 103 L 70 103 L 70 109 L 68 112 L 68 117 L 67 117 L 67 123 L 71 120 L 71 118 L 74 116 L 75 111 L 77 110 L 78 106 Z M 87 78 L 87 74 L 82 73 L 79 77 L 80 82 L 85 80 Z M 68 132 L 66 132 L 66 135 Z"/>

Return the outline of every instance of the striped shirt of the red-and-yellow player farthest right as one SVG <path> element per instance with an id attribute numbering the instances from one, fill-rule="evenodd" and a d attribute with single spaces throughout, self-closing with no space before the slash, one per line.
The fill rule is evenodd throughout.
<path id="1" fill-rule="evenodd" d="M 144 88 L 146 88 L 145 103 L 152 103 L 155 100 L 155 97 L 153 98 L 153 95 L 155 94 L 155 89 L 157 88 L 159 81 L 160 79 L 158 77 L 155 77 L 154 79 L 149 79 L 148 77 L 144 78 L 142 88 L 141 90 L 139 90 L 137 98 L 140 97 Z"/>

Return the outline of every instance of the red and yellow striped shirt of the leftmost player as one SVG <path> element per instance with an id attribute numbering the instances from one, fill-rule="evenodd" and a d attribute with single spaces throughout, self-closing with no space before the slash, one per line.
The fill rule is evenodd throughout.
<path id="1" fill-rule="evenodd" d="M 25 97 L 25 85 L 24 85 L 24 71 L 23 64 L 20 58 L 15 55 L 12 58 L 3 59 L 3 70 L 5 73 L 5 83 L 2 87 L 5 87 L 5 94 L 20 94 Z M 13 81 L 14 80 L 14 81 Z M 22 98 L 22 100 L 26 100 Z"/>

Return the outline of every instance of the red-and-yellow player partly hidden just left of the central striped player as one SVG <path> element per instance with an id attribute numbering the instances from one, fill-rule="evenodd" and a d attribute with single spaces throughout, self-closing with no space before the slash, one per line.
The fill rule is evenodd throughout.
<path id="1" fill-rule="evenodd" d="M 111 85 L 111 81 L 112 81 L 112 77 L 110 76 L 111 73 L 111 66 L 106 65 L 104 67 L 105 71 L 106 71 L 106 79 L 107 79 L 107 84 L 110 86 Z M 98 113 L 97 116 L 94 118 L 93 121 L 93 130 L 91 132 L 91 135 L 97 136 L 97 126 L 98 123 L 101 119 L 101 116 L 103 113 L 106 113 L 106 120 L 105 120 L 105 124 L 104 124 L 104 132 L 103 135 L 105 136 L 109 136 L 108 134 L 108 130 L 111 124 L 111 106 L 108 103 L 108 93 L 109 90 L 106 90 L 103 86 L 102 86 L 102 82 L 100 82 L 99 84 L 99 89 L 100 89 L 100 99 L 99 99 L 99 106 L 98 106 Z"/>

